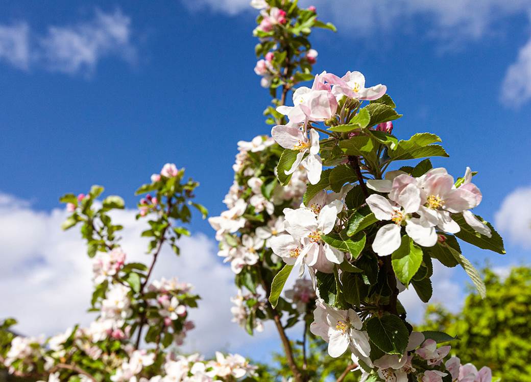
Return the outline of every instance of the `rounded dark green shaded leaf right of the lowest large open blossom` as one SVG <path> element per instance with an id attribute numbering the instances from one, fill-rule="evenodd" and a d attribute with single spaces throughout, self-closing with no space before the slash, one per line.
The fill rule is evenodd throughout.
<path id="1" fill-rule="evenodd" d="M 404 354 L 409 332 L 398 316 L 373 317 L 367 321 L 367 334 L 379 349 L 387 354 Z"/>

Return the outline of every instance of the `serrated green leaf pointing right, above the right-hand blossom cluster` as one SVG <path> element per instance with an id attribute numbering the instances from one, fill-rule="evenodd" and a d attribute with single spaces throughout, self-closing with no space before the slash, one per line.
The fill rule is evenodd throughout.
<path id="1" fill-rule="evenodd" d="M 441 139 L 430 133 L 418 133 L 413 137 L 398 142 L 395 150 L 389 151 L 392 160 L 417 159 L 424 157 L 448 157 L 447 152 L 439 145 L 431 145 L 440 142 Z"/>

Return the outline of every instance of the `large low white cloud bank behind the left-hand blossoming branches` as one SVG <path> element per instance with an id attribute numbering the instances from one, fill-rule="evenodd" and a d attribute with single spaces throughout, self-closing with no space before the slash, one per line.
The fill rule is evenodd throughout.
<path id="1" fill-rule="evenodd" d="M 117 211 L 113 219 L 124 225 L 122 246 L 128 261 L 148 262 L 147 241 L 140 237 L 145 222 L 136 211 Z M 63 232 L 63 210 L 39 212 L 25 202 L 0 194 L 0 318 L 19 319 L 16 327 L 25 335 L 62 332 L 76 322 L 87 325 L 91 264 L 78 229 Z M 199 309 L 191 310 L 196 328 L 187 338 L 190 351 L 211 353 L 219 349 L 242 349 L 275 336 L 272 330 L 251 337 L 231 322 L 230 296 L 236 294 L 234 275 L 216 256 L 216 244 L 199 234 L 184 237 L 181 256 L 162 250 L 153 276 L 177 276 L 191 282 L 201 295 Z"/>

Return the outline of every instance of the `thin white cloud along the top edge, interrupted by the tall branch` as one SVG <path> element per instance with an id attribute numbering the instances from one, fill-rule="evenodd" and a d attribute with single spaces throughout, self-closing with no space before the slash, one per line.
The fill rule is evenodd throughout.
<path id="1" fill-rule="evenodd" d="M 249 0 L 182 0 L 191 9 L 235 14 L 252 11 Z M 323 20 L 335 22 L 340 31 L 356 36 L 379 35 L 426 17 L 433 35 L 443 39 L 482 37 L 506 16 L 526 12 L 530 0 L 301 0 L 301 6 L 315 5 Z"/>

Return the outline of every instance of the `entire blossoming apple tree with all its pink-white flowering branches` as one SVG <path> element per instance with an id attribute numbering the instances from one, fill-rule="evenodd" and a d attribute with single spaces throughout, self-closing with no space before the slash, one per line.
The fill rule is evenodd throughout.
<path id="1" fill-rule="evenodd" d="M 260 12 L 254 71 L 272 96 L 264 111 L 272 137 L 238 142 L 227 210 L 209 218 L 218 254 L 235 274 L 234 321 L 249 334 L 274 327 L 290 370 L 282 377 L 296 382 L 312 378 L 309 336 L 328 343 L 332 358 L 349 355 L 348 366 L 336 370 L 338 382 L 490 382 L 489 368 L 450 356 L 448 343 L 457 341 L 451 334 L 413 330 L 400 303 L 405 288 L 431 299 L 434 260 L 463 267 L 485 295 L 459 240 L 505 251 L 492 225 L 473 212 L 482 201 L 476 173 L 466 167 L 456 179 L 432 168 L 430 157 L 448 156 L 435 134 L 393 135 L 392 121 L 401 115 L 386 86 L 367 87 L 357 71 L 312 74 L 312 30 L 335 30 L 315 7 L 290 0 L 251 5 Z M 301 86 L 306 81 L 311 87 Z M 179 254 L 179 238 L 190 234 L 190 207 L 206 216 L 192 201 L 196 186 L 166 164 L 137 191 L 147 194 L 137 217 L 148 224 L 148 265 L 126 261 L 123 227 L 111 218 L 124 208 L 122 198 L 98 201 L 99 186 L 63 196 L 70 213 L 63 228 L 81 227 L 92 258 L 90 304 L 98 317 L 46 340 L 16 336 L 8 330 L 15 321 L 5 320 L 0 357 L 8 370 L 48 381 L 272 378 L 238 354 L 217 352 L 209 360 L 179 352 L 199 296 L 190 284 L 152 280 L 151 273 L 164 245 Z M 296 282 L 284 290 L 292 273 Z"/>

